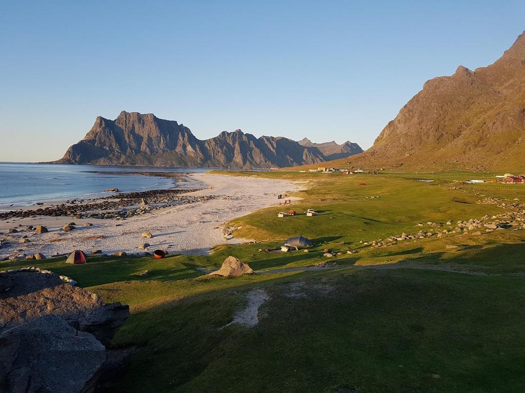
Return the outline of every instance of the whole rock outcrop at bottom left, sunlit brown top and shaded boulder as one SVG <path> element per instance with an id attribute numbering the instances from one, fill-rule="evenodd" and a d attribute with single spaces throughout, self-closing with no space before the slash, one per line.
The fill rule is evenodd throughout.
<path id="1" fill-rule="evenodd" d="M 0 273 L 0 391 L 94 391 L 104 345 L 129 307 L 106 304 L 66 279 L 34 268 Z"/>

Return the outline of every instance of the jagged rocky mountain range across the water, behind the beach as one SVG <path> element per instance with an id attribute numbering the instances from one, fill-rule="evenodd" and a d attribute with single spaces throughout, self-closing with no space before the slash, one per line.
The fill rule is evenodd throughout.
<path id="1" fill-rule="evenodd" d="M 306 143 L 305 141 L 308 141 Z M 274 168 L 318 163 L 348 157 L 362 149 L 301 143 L 283 137 L 256 138 L 241 130 L 200 140 L 175 121 L 153 114 L 122 111 L 114 120 L 97 117 L 84 139 L 72 145 L 55 163 L 152 165 L 172 167 Z"/>

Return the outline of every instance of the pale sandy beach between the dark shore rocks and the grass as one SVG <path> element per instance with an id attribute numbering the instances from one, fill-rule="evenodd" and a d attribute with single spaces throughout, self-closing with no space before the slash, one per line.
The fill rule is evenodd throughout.
<path id="1" fill-rule="evenodd" d="M 41 253 L 53 256 L 81 249 L 85 252 L 99 249 L 103 253 L 124 251 L 143 252 L 142 243 L 149 250 L 161 248 L 171 254 L 206 254 L 217 244 L 238 244 L 249 239 L 224 238 L 224 224 L 257 209 L 278 205 L 278 194 L 301 189 L 301 184 L 285 180 L 256 179 L 208 173 L 196 173 L 185 178 L 185 188 L 203 188 L 184 195 L 215 196 L 214 199 L 172 206 L 126 220 L 72 219 L 72 217 L 37 216 L 0 221 L 0 238 L 7 239 L 0 248 L 0 258 L 14 253 L 31 255 Z M 213 185 L 213 189 L 211 186 Z M 293 198 L 292 198 L 293 200 Z M 60 203 L 48 202 L 46 205 Z M 62 232 L 62 226 L 74 221 L 75 230 Z M 85 223 L 91 226 L 84 226 Z M 24 230 L 27 225 L 45 225 L 49 233 L 34 234 Z M 7 234 L 9 228 L 19 232 Z M 149 231 L 152 238 L 141 233 Z M 18 243 L 27 236 L 28 243 Z"/>

